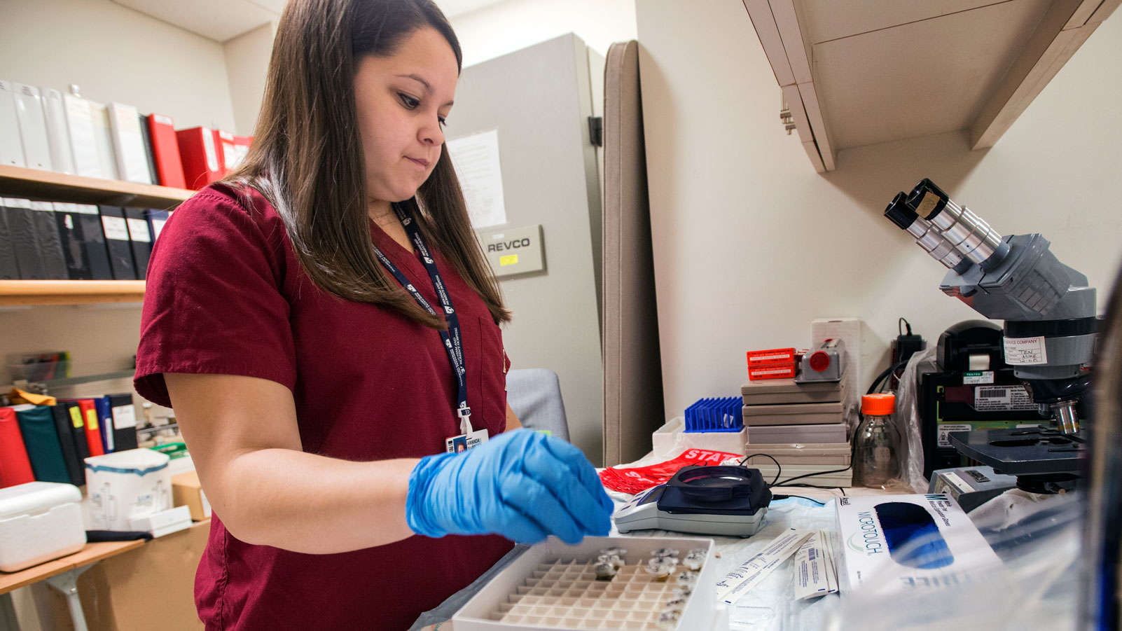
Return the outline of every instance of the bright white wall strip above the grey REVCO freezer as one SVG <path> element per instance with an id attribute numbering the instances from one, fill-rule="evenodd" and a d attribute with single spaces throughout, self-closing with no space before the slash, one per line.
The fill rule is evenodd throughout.
<path id="1" fill-rule="evenodd" d="M 635 0 L 507 0 L 449 18 L 469 66 L 574 33 L 607 55 L 635 39 Z"/>

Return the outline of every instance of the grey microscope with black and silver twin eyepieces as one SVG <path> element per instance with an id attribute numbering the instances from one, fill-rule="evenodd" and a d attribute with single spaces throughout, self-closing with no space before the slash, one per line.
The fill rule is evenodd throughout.
<path id="1" fill-rule="evenodd" d="M 1087 277 L 1060 263 L 1041 235 L 1003 237 L 928 179 L 911 194 L 898 193 L 884 216 L 948 268 L 939 286 L 945 294 L 1004 320 L 1005 363 L 1048 420 L 1036 428 L 951 432 L 950 442 L 1017 476 L 1024 491 L 1074 490 L 1085 449 L 1077 408 L 1089 404 L 1084 397 L 1098 332 Z"/>

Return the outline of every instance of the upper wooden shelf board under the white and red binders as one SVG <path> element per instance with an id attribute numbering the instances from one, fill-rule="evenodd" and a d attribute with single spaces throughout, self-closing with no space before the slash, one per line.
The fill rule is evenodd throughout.
<path id="1" fill-rule="evenodd" d="M 171 210 L 195 194 L 186 189 L 67 175 L 53 171 L 0 165 L 0 195 L 50 201 L 107 203 Z"/>

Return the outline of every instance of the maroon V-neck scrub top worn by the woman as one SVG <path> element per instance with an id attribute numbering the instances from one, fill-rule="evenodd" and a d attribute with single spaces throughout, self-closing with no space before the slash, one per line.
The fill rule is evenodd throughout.
<path id="1" fill-rule="evenodd" d="M 136 388 L 171 405 L 163 373 L 246 375 L 292 390 L 304 450 L 347 460 L 417 458 L 459 433 L 456 377 L 438 331 L 328 294 L 304 274 L 257 191 L 211 185 L 172 214 L 153 248 Z M 374 243 L 431 304 L 421 260 L 370 222 Z M 436 252 L 460 316 L 476 429 L 506 426 L 503 337 L 484 301 Z M 393 282 L 393 277 L 390 277 Z M 211 521 L 195 575 L 208 630 L 407 629 L 486 571 L 495 536 L 404 541 L 334 555 L 254 546 Z"/>

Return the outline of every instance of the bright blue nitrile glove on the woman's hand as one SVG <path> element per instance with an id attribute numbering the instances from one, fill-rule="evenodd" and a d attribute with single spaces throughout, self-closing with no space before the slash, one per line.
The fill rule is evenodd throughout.
<path id="1" fill-rule="evenodd" d="M 410 474 L 405 519 L 425 537 L 497 533 L 532 543 L 605 536 L 613 503 L 568 442 L 526 429 L 462 454 L 426 456 Z"/>

